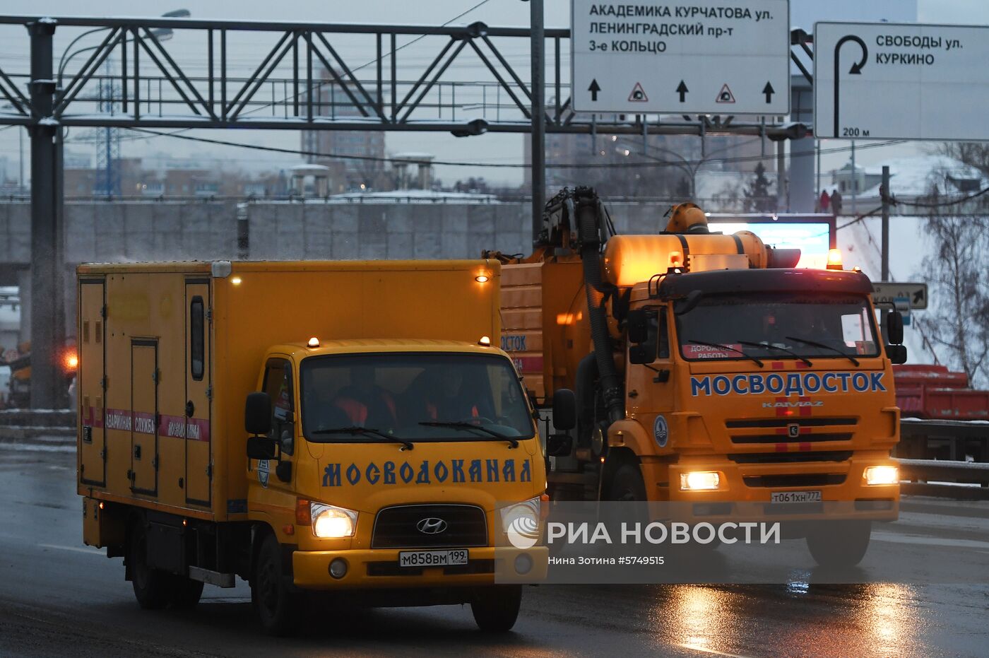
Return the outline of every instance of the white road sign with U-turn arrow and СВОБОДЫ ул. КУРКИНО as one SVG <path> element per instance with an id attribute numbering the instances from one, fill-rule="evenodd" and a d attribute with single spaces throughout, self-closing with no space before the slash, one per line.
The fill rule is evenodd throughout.
<path id="1" fill-rule="evenodd" d="M 814 26 L 818 138 L 989 140 L 989 28 Z"/>

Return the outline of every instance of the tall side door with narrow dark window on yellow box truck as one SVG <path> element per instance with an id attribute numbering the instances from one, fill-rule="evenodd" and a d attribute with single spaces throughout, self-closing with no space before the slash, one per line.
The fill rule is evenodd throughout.
<path id="1" fill-rule="evenodd" d="M 210 280 L 186 280 L 186 503 L 210 507 Z"/>

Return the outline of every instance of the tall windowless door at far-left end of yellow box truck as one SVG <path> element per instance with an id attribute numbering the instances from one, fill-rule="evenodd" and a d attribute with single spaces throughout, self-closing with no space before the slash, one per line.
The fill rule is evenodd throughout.
<path id="1" fill-rule="evenodd" d="M 83 484 L 106 486 L 107 435 L 103 427 L 103 375 L 106 334 L 103 309 L 106 282 L 79 281 L 79 370 L 75 390 L 79 404 L 79 477 Z"/>

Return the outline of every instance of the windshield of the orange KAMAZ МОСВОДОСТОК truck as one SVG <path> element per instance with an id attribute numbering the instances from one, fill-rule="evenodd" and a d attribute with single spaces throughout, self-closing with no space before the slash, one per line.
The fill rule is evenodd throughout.
<path id="1" fill-rule="evenodd" d="M 676 316 L 687 360 L 877 356 L 868 301 L 836 293 L 708 295 Z"/>

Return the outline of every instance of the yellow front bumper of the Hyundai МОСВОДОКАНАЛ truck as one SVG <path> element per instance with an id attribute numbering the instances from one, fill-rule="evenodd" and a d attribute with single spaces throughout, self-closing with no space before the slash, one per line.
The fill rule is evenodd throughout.
<path id="1" fill-rule="evenodd" d="M 399 553 L 404 550 L 411 549 L 296 551 L 292 554 L 294 583 L 307 590 L 534 583 L 546 578 L 549 559 L 545 546 L 526 549 L 482 546 L 467 549 L 470 555 L 466 565 L 403 567 L 399 564 Z M 346 572 L 336 578 L 330 573 L 330 565 L 340 560 L 345 563 Z"/>

